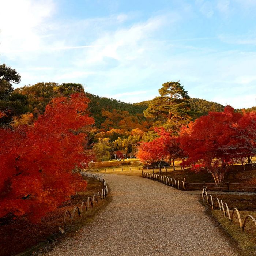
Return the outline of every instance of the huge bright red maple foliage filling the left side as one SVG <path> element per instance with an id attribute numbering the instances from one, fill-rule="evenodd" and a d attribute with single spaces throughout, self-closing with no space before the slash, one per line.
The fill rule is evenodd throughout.
<path id="1" fill-rule="evenodd" d="M 94 123 L 83 94 L 53 99 L 33 125 L 0 129 L 0 217 L 39 220 L 86 187 L 75 167 L 90 160 L 79 128 Z"/>

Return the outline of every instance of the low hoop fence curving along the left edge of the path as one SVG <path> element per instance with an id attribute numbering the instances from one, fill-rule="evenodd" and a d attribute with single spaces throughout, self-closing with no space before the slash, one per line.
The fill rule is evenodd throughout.
<path id="1" fill-rule="evenodd" d="M 72 222 L 76 212 L 79 217 L 82 217 L 83 210 L 88 211 L 89 208 L 93 208 L 95 204 L 99 203 L 99 200 L 105 199 L 108 195 L 107 182 L 102 176 L 99 176 L 93 173 L 88 173 L 88 172 L 82 172 L 82 175 L 101 181 L 103 183 L 102 191 L 95 193 L 92 197 L 91 196 L 87 197 L 87 200 L 81 203 L 80 208 L 78 206 L 75 206 L 72 211 L 69 211 L 69 210 L 65 211 L 63 225 L 59 227 L 60 234 L 64 234 L 67 215 L 70 219 L 70 224 L 73 225 Z"/>

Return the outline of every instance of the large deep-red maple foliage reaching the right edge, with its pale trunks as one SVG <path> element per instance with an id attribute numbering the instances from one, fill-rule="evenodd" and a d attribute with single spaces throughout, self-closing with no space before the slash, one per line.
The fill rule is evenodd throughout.
<path id="1" fill-rule="evenodd" d="M 239 113 L 226 106 L 223 112 L 210 112 L 191 122 L 180 133 L 181 148 L 188 156 L 187 164 L 195 166 L 195 162 L 199 161 L 218 185 L 230 163 L 235 159 L 241 159 L 243 163 L 245 157 L 250 159 L 252 156 L 255 135 L 248 136 L 248 132 L 255 131 L 256 126 L 253 128 L 252 125 L 255 117 L 253 112 Z M 251 147 L 249 150 L 246 143 L 247 147 Z M 193 169 L 196 171 L 196 168 Z"/>

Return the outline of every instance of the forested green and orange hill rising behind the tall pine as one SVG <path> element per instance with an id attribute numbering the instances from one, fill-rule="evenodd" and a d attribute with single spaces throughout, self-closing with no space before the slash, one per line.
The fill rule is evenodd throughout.
<path id="1" fill-rule="evenodd" d="M 37 83 L 33 86 L 18 88 L 15 93 L 27 97 L 29 112 L 37 117 L 38 114 L 44 113 L 45 106 L 52 98 L 68 96 L 77 91 L 84 91 L 82 84 Z M 88 92 L 86 92 L 86 95 L 90 99 L 88 110 L 95 119 L 95 126 L 99 129 L 132 129 L 134 127 L 140 127 L 141 129 L 147 127 L 148 129 L 155 121 L 144 117 L 143 114 L 151 100 L 131 104 Z M 189 103 L 193 118 L 206 115 L 209 111 L 221 112 L 224 109 L 223 105 L 205 99 L 191 98 Z"/>

